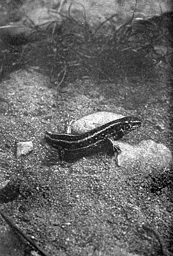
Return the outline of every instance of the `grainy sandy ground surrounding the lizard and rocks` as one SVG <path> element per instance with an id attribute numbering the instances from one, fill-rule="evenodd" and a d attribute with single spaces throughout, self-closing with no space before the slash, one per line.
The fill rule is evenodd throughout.
<path id="1" fill-rule="evenodd" d="M 84 80 L 56 90 L 31 68 L 1 82 L 0 207 L 47 255 L 172 255 L 172 172 L 118 168 L 109 152 L 62 168 L 44 132 L 96 111 L 139 116 L 128 143 L 153 140 L 172 150 L 171 84 L 162 81 L 98 84 Z M 16 157 L 16 142 L 33 152 Z M 1 255 L 24 255 L 0 218 Z"/>

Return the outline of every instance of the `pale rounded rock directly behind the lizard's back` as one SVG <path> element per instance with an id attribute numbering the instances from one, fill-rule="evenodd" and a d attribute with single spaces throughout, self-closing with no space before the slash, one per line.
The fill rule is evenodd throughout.
<path id="1" fill-rule="evenodd" d="M 79 134 L 87 132 L 103 124 L 109 123 L 113 120 L 123 118 L 123 115 L 119 115 L 112 112 L 100 111 L 80 118 L 71 124 L 71 132 L 73 134 Z"/>

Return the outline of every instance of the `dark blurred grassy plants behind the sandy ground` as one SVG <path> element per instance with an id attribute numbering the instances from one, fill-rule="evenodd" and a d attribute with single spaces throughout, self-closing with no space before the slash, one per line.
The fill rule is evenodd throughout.
<path id="1" fill-rule="evenodd" d="M 73 3 L 68 16 L 59 13 L 63 18 L 61 26 L 56 20 L 38 26 L 27 19 L 25 26 L 31 30 L 29 42 L 22 49 L 15 47 L 13 68 L 39 67 L 37 70 L 49 74 L 51 83 L 58 88 L 65 81 L 81 77 L 114 81 L 125 74 L 147 79 L 153 76 L 154 67 L 160 61 L 162 68 L 170 65 L 168 53 L 160 56 L 156 51 L 157 45 L 166 45 L 170 37 L 167 32 L 160 33 L 159 19 L 135 19 L 134 9 L 131 19 L 119 28 L 114 14 L 94 29 L 87 21 L 84 6 L 80 4 L 79 20 L 74 17 L 72 7 Z M 1 72 L 6 66 L 3 63 L 1 57 Z"/>

